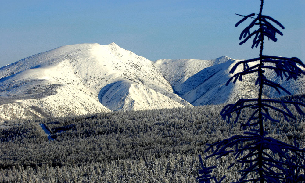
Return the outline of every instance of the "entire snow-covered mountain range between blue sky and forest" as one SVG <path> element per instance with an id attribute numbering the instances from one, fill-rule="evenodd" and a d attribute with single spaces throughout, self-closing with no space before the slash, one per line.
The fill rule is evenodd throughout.
<path id="1" fill-rule="evenodd" d="M 109 45 L 67 45 L 0 68 L 0 121 L 235 102 L 257 96 L 256 76 L 225 86 L 238 60 L 156 60 Z M 280 81 L 303 93 L 305 78 Z M 279 96 L 267 88 L 264 97 Z"/>

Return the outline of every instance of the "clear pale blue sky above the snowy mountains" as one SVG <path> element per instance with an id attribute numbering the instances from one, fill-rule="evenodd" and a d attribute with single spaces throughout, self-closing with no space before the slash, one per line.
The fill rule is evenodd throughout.
<path id="1" fill-rule="evenodd" d="M 240 16 L 259 0 L 0 0 L 0 67 L 63 45 L 115 42 L 149 60 L 256 58 L 239 45 Z M 265 0 L 263 14 L 285 27 L 265 55 L 305 62 L 305 1 Z"/>

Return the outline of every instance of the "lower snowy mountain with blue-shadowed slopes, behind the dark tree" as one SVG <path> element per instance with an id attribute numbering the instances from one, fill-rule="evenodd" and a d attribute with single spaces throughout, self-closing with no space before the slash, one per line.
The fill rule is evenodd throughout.
<path id="1" fill-rule="evenodd" d="M 172 84 L 174 91 L 181 98 L 194 106 L 206 104 L 234 103 L 240 98 L 256 98 L 258 88 L 254 85 L 257 76 L 249 74 L 243 77 L 243 82 L 237 81 L 225 86 L 233 74 L 230 74 L 232 66 L 239 60 L 222 56 L 213 60 L 156 60 L 153 64 Z M 253 63 L 254 64 L 254 63 Z M 241 71 L 238 67 L 235 72 Z M 272 81 L 281 83 L 292 94 L 304 93 L 305 78 L 302 76 L 297 81 L 285 81 L 276 77 L 271 70 L 266 70 L 265 75 Z M 265 87 L 264 98 L 279 97 L 274 89 Z"/>

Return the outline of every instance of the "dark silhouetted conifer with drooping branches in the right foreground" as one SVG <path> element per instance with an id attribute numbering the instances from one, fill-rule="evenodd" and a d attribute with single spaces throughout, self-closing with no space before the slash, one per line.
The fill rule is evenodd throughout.
<path id="1" fill-rule="evenodd" d="M 242 114 L 242 111 L 248 109 L 251 115 L 248 120 L 242 122 L 241 126 L 245 132 L 243 135 L 235 135 L 231 138 L 224 139 L 214 144 L 207 144 L 206 151 L 211 150 L 212 154 L 207 158 L 215 156 L 216 159 L 228 154 L 233 154 L 236 158 L 235 163 L 241 164 L 241 178 L 236 182 L 304 182 L 304 149 L 299 149 L 295 144 L 289 145 L 274 138 L 268 137 L 268 132 L 264 129 L 264 122 L 280 123 L 281 121 L 270 116 L 271 112 L 281 114 L 283 120 L 296 120 L 292 113 L 292 109 L 296 110 L 300 115 L 304 115 L 302 107 L 305 105 L 301 102 L 294 102 L 281 99 L 264 99 L 262 97 L 263 87 L 274 88 L 278 93 L 281 91 L 290 95 L 281 84 L 274 83 L 267 79 L 264 75 L 265 70 L 273 70 L 282 80 L 296 80 L 301 74 L 305 74 L 305 65 L 296 57 L 285 58 L 278 56 L 263 55 L 264 38 L 277 41 L 276 34 L 283 35 L 276 27 L 284 29 L 281 23 L 274 20 L 270 16 L 262 14 L 264 0 L 261 0 L 259 14 L 252 13 L 242 16 L 242 20 L 236 23 L 236 27 L 247 19 L 252 22 L 240 34 L 239 44 L 242 45 L 250 38 L 253 38 L 251 48 L 260 45 L 260 53 L 258 58 L 240 61 L 233 66 L 230 73 L 234 74 L 237 67 L 243 67 L 231 77 L 226 85 L 231 81 L 235 83 L 237 80 L 242 81 L 242 77 L 247 74 L 257 74 L 255 85 L 259 87 L 258 98 L 255 99 L 239 99 L 235 104 L 228 104 L 221 111 L 224 120 L 230 123 L 230 119 L 234 118 L 236 123 Z M 275 26 L 272 24 L 276 24 Z M 257 27 L 256 30 L 253 30 Z M 233 117 L 234 116 L 234 117 Z M 201 158 L 199 157 L 200 161 Z M 202 161 L 201 161 L 202 162 Z M 233 163 L 228 168 L 232 167 Z M 201 163 L 203 170 L 205 169 Z M 208 171 L 200 170 L 202 174 L 199 182 L 209 182 L 214 177 L 209 175 Z M 206 177 L 206 175 L 209 175 Z M 202 181 L 200 181 L 202 180 Z M 216 181 L 217 182 L 217 181 Z"/>

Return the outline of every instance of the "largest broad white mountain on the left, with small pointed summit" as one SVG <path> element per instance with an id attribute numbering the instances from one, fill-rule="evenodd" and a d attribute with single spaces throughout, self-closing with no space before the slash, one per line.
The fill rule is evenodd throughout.
<path id="1" fill-rule="evenodd" d="M 118 82 L 124 99 L 109 96 Z M 2 67 L 0 99 L 49 116 L 191 106 L 150 60 L 115 43 L 62 46 Z"/>

